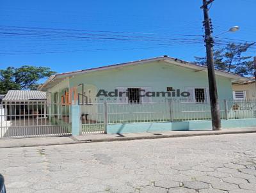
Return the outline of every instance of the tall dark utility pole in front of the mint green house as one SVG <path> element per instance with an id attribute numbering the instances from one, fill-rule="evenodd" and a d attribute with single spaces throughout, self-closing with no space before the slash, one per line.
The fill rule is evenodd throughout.
<path id="1" fill-rule="evenodd" d="M 216 77 L 214 72 L 214 61 L 213 61 L 213 38 L 211 36 L 211 19 L 209 19 L 208 5 L 214 0 L 203 0 L 204 10 L 204 28 L 205 28 L 205 47 L 206 47 L 206 58 L 207 58 L 207 69 L 208 69 L 208 82 L 209 82 L 209 93 L 211 101 L 211 115 L 212 115 L 212 130 L 221 130 L 220 120 L 220 105 L 218 102 L 218 93 L 216 86 Z"/>

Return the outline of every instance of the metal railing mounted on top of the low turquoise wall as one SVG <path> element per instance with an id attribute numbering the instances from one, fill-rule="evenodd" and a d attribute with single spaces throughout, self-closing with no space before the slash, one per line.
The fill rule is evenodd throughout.
<path id="1" fill-rule="evenodd" d="M 107 104 L 108 123 L 211 120 L 209 103 L 166 101 L 147 104 Z M 221 119 L 256 118 L 256 101 L 221 101 Z"/>

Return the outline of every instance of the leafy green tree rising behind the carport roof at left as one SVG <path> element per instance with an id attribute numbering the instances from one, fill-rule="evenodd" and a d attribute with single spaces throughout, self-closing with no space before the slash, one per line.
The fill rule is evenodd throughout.
<path id="1" fill-rule="evenodd" d="M 40 79 L 50 77 L 54 73 L 56 72 L 47 67 L 8 67 L 5 70 L 0 70 L 0 93 L 5 94 L 11 89 L 36 90 Z"/>

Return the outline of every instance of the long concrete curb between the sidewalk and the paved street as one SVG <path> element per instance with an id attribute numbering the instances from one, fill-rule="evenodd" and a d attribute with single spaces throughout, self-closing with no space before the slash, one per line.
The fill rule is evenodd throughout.
<path id="1" fill-rule="evenodd" d="M 111 142 L 111 141 L 132 141 L 132 140 L 142 140 L 142 139 L 164 139 L 164 138 L 177 138 L 177 137 L 196 137 L 196 136 L 206 136 L 206 135 L 228 135 L 228 134 L 250 134 L 256 133 L 256 130 L 243 130 L 243 131 L 211 131 L 198 134 L 173 134 L 173 135 L 149 135 L 149 136 L 139 136 L 139 137 L 120 137 L 120 138 L 108 138 L 108 139 L 86 139 L 77 140 L 76 137 L 70 136 L 72 142 L 67 143 L 49 143 L 49 144 L 24 144 L 20 146 L 3 146 L 3 148 L 25 148 L 25 147 L 36 147 L 36 146 L 58 146 L 64 144 L 83 144 L 83 143 L 100 143 L 100 142 Z"/>

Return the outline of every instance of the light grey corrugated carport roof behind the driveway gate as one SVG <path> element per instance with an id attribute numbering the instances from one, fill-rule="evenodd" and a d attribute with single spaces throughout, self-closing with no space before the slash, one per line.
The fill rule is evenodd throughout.
<path id="1" fill-rule="evenodd" d="M 46 93 L 42 91 L 11 90 L 3 98 L 3 102 L 28 102 L 32 100 L 46 100 Z"/>

